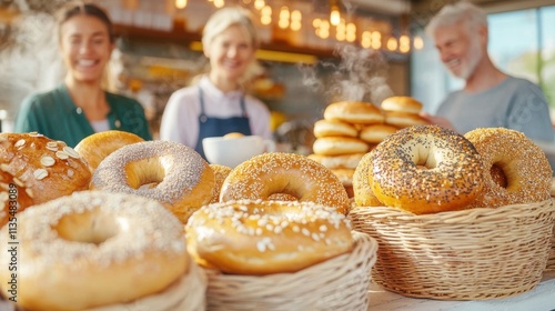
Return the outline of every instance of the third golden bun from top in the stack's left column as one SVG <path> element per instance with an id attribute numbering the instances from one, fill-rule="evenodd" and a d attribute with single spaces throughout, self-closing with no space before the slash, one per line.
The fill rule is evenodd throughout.
<path id="1" fill-rule="evenodd" d="M 323 137 L 314 141 L 312 150 L 322 156 L 366 153 L 370 150 L 370 144 L 357 138 Z"/>

